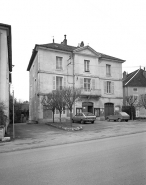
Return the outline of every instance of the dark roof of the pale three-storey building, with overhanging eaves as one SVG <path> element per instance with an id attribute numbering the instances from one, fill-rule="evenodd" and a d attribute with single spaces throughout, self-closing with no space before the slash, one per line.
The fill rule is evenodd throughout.
<path id="1" fill-rule="evenodd" d="M 73 51 L 75 51 L 75 50 L 80 48 L 80 47 L 69 46 L 69 45 L 58 44 L 58 43 L 49 43 L 49 44 L 40 44 L 40 45 L 36 44 L 35 48 L 33 49 L 33 52 L 32 52 L 32 55 L 31 55 L 28 67 L 27 67 L 27 71 L 30 70 L 31 65 L 33 63 L 33 60 L 34 60 L 34 58 L 35 58 L 35 56 L 37 54 L 37 50 L 36 50 L 37 47 L 43 47 L 43 48 L 49 48 L 49 49 L 67 51 L 67 52 L 73 52 Z M 83 48 L 86 48 L 86 47 L 90 47 L 90 46 L 83 46 Z M 125 60 L 122 60 L 122 59 L 119 59 L 119 58 L 115 58 L 115 57 L 112 57 L 112 56 L 109 56 L 109 55 L 105 55 L 103 53 L 99 53 L 99 52 L 96 52 L 96 53 L 98 53 L 100 55 L 100 57 L 99 57 L 100 59 L 110 59 L 110 60 L 116 60 L 116 61 L 119 61 L 119 62 L 125 62 Z"/>

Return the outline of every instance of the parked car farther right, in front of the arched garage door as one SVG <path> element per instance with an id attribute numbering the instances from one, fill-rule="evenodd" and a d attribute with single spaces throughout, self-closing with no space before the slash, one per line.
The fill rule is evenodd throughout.
<path id="1" fill-rule="evenodd" d="M 115 115 L 109 115 L 106 117 L 107 121 L 113 120 L 113 121 L 128 121 L 130 119 L 129 114 L 126 112 L 118 112 Z"/>

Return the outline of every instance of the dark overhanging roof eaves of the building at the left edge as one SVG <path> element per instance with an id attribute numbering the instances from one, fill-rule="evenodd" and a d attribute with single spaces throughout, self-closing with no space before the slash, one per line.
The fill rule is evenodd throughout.
<path id="1" fill-rule="evenodd" d="M 8 24 L 0 23 L 0 29 L 7 30 L 7 45 L 8 45 L 8 61 L 9 61 L 9 71 L 12 71 L 12 36 L 11 36 L 11 26 Z"/>

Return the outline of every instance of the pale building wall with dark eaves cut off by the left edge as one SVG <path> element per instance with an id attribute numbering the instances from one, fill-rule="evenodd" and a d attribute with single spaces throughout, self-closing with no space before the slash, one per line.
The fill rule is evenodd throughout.
<path id="1" fill-rule="evenodd" d="M 11 26 L 0 23 L 0 102 L 5 105 L 9 124 L 9 93 L 12 72 Z"/>

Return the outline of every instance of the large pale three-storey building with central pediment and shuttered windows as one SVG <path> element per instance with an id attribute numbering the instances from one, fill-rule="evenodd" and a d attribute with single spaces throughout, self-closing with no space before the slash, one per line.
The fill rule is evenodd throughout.
<path id="1" fill-rule="evenodd" d="M 35 45 L 29 71 L 29 119 L 43 121 L 52 118 L 44 110 L 41 99 L 55 89 L 74 86 L 81 88 L 81 98 L 75 102 L 73 114 L 94 113 L 98 119 L 120 110 L 123 104 L 122 63 L 124 60 L 96 52 L 90 46 L 67 45 L 66 35 L 61 44 Z M 62 117 L 68 117 L 65 108 Z M 55 117 L 59 117 L 55 111 Z"/>

